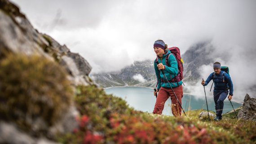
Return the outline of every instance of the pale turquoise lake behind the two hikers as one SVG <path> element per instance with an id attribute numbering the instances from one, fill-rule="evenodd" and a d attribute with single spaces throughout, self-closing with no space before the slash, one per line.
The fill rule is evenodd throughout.
<path id="1" fill-rule="evenodd" d="M 113 94 L 127 101 L 130 107 L 134 109 L 141 110 L 143 112 L 152 113 L 154 109 L 155 96 L 153 94 L 154 90 L 149 87 L 110 87 L 106 88 L 105 92 L 107 94 Z M 207 96 L 208 109 L 215 112 L 215 104 L 213 101 L 213 96 Z M 238 108 L 242 104 L 232 101 L 235 108 Z M 163 113 L 164 115 L 172 115 L 171 111 L 171 99 L 169 98 L 164 105 Z M 189 108 L 193 109 L 207 109 L 206 100 L 204 98 L 198 98 L 197 96 L 184 94 L 182 98 L 182 108 L 187 111 Z M 228 99 L 224 100 L 223 113 L 233 110 L 230 101 Z"/>

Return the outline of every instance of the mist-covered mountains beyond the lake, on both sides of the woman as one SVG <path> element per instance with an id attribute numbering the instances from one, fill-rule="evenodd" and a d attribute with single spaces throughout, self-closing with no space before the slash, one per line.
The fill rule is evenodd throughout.
<path id="1" fill-rule="evenodd" d="M 182 52 L 182 48 L 181 52 Z M 252 97 L 256 96 L 256 84 L 253 81 L 255 78 L 247 79 L 243 75 L 252 75 L 255 67 L 250 65 L 255 50 L 244 50 L 246 53 L 241 53 L 242 48 L 233 48 L 231 51 L 228 48 L 220 48 L 212 41 L 206 40 L 198 42 L 190 46 L 190 48 L 181 55 L 184 61 L 184 92 L 203 98 L 203 87 L 200 84 L 202 78 L 207 79 L 209 74 L 213 72 L 212 64 L 215 61 L 221 62 L 221 65 L 229 66 L 230 76 L 234 84 L 234 100 L 241 101 L 246 93 Z M 247 52 L 248 51 L 248 52 Z M 235 58 L 235 56 L 239 58 Z M 119 71 L 102 72 L 91 74 L 91 78 L 95 83 L 102 87 L 115 86 L 142 86 L 155 87 L 156 76 L 152 60 L 135 61 Z M 239 62 L 239 63 L 238 63 Z M 236 70 L 236 67 L 241 67 L 241 70 Z M 242 78 L 243 77 L 243 78 Z M 244 82 L 245 81 L 245 82 Z M 207 96 L 211 96 L 210 92 L 212 82 L 205 87 Z M 213 85 L 214 87 L 214 85 Z"/>

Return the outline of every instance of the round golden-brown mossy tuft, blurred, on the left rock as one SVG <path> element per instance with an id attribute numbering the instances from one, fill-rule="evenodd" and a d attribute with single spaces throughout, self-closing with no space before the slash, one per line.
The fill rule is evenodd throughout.
<path id="1" fill-rule="evenodd" d="M 0 61 L 0 119 L 24 130 L 47 131 L 71 105 L 65 70 L 37 55 L 7 54 Z"/>

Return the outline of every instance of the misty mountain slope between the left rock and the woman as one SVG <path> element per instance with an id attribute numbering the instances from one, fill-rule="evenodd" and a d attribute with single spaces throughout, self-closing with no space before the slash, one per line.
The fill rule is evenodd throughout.
<path id="1" fill-rule="evenodd" d="M 95 83 L 102 87 L 143 86 L 154 87 L 156 77 L 153 61 L 135 61 L 120 71 L 91 74 Z"/>

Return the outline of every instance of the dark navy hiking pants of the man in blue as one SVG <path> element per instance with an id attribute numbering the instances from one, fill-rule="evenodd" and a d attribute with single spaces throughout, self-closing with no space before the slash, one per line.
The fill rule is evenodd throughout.
<path id="1" fill-rule="evenodd" d="M 228 91 L 213 92 L 213 99 L 215 102 L 216 116 L 222 118 L 221 114 L 224 107 L 224 100 L 228 96 Z"/>

